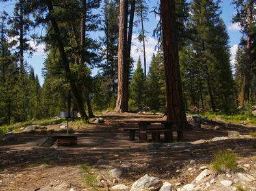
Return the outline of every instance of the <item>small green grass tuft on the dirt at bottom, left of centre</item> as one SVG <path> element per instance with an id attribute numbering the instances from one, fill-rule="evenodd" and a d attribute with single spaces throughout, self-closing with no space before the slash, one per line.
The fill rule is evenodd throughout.
<path id="1" fill-rule="evenodd" d="M 92 187 L 92 190 L 97 190 L 97 177 L 91 172 L 92 168 L 88 164 L 81 164 L 81 168 L 84 171 L 81 177 L 82 181 L 86 186 Z"/>

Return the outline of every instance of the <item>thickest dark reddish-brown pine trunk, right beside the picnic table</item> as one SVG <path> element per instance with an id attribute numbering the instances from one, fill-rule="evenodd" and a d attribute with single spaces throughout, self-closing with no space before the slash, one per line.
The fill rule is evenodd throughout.
<path id="1" fill-rule="evenodd" d="M 178 128 L 178 139 L 183 137 L 183 129 L 188 126 L 181 86 L 179 54 L 175 27 L 175 1 L 160 1 L 162 19 L 162 44 L 164 48 L 164 68 L 166 75 L 166 113 L 167 120 Z"/>

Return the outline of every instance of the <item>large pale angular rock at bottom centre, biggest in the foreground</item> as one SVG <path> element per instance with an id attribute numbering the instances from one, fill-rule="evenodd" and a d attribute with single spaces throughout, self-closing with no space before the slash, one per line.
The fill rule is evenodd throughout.
<path id="1" fill-rule="evenodd" d="M 131 188 L 137 189 L 151 189 L 151 190 L 158 190 L 162 186 L 162 181 L 158 177 L 149 176 L 148 174 L 140 177 L 140 179 L 136 180 Z"/>

